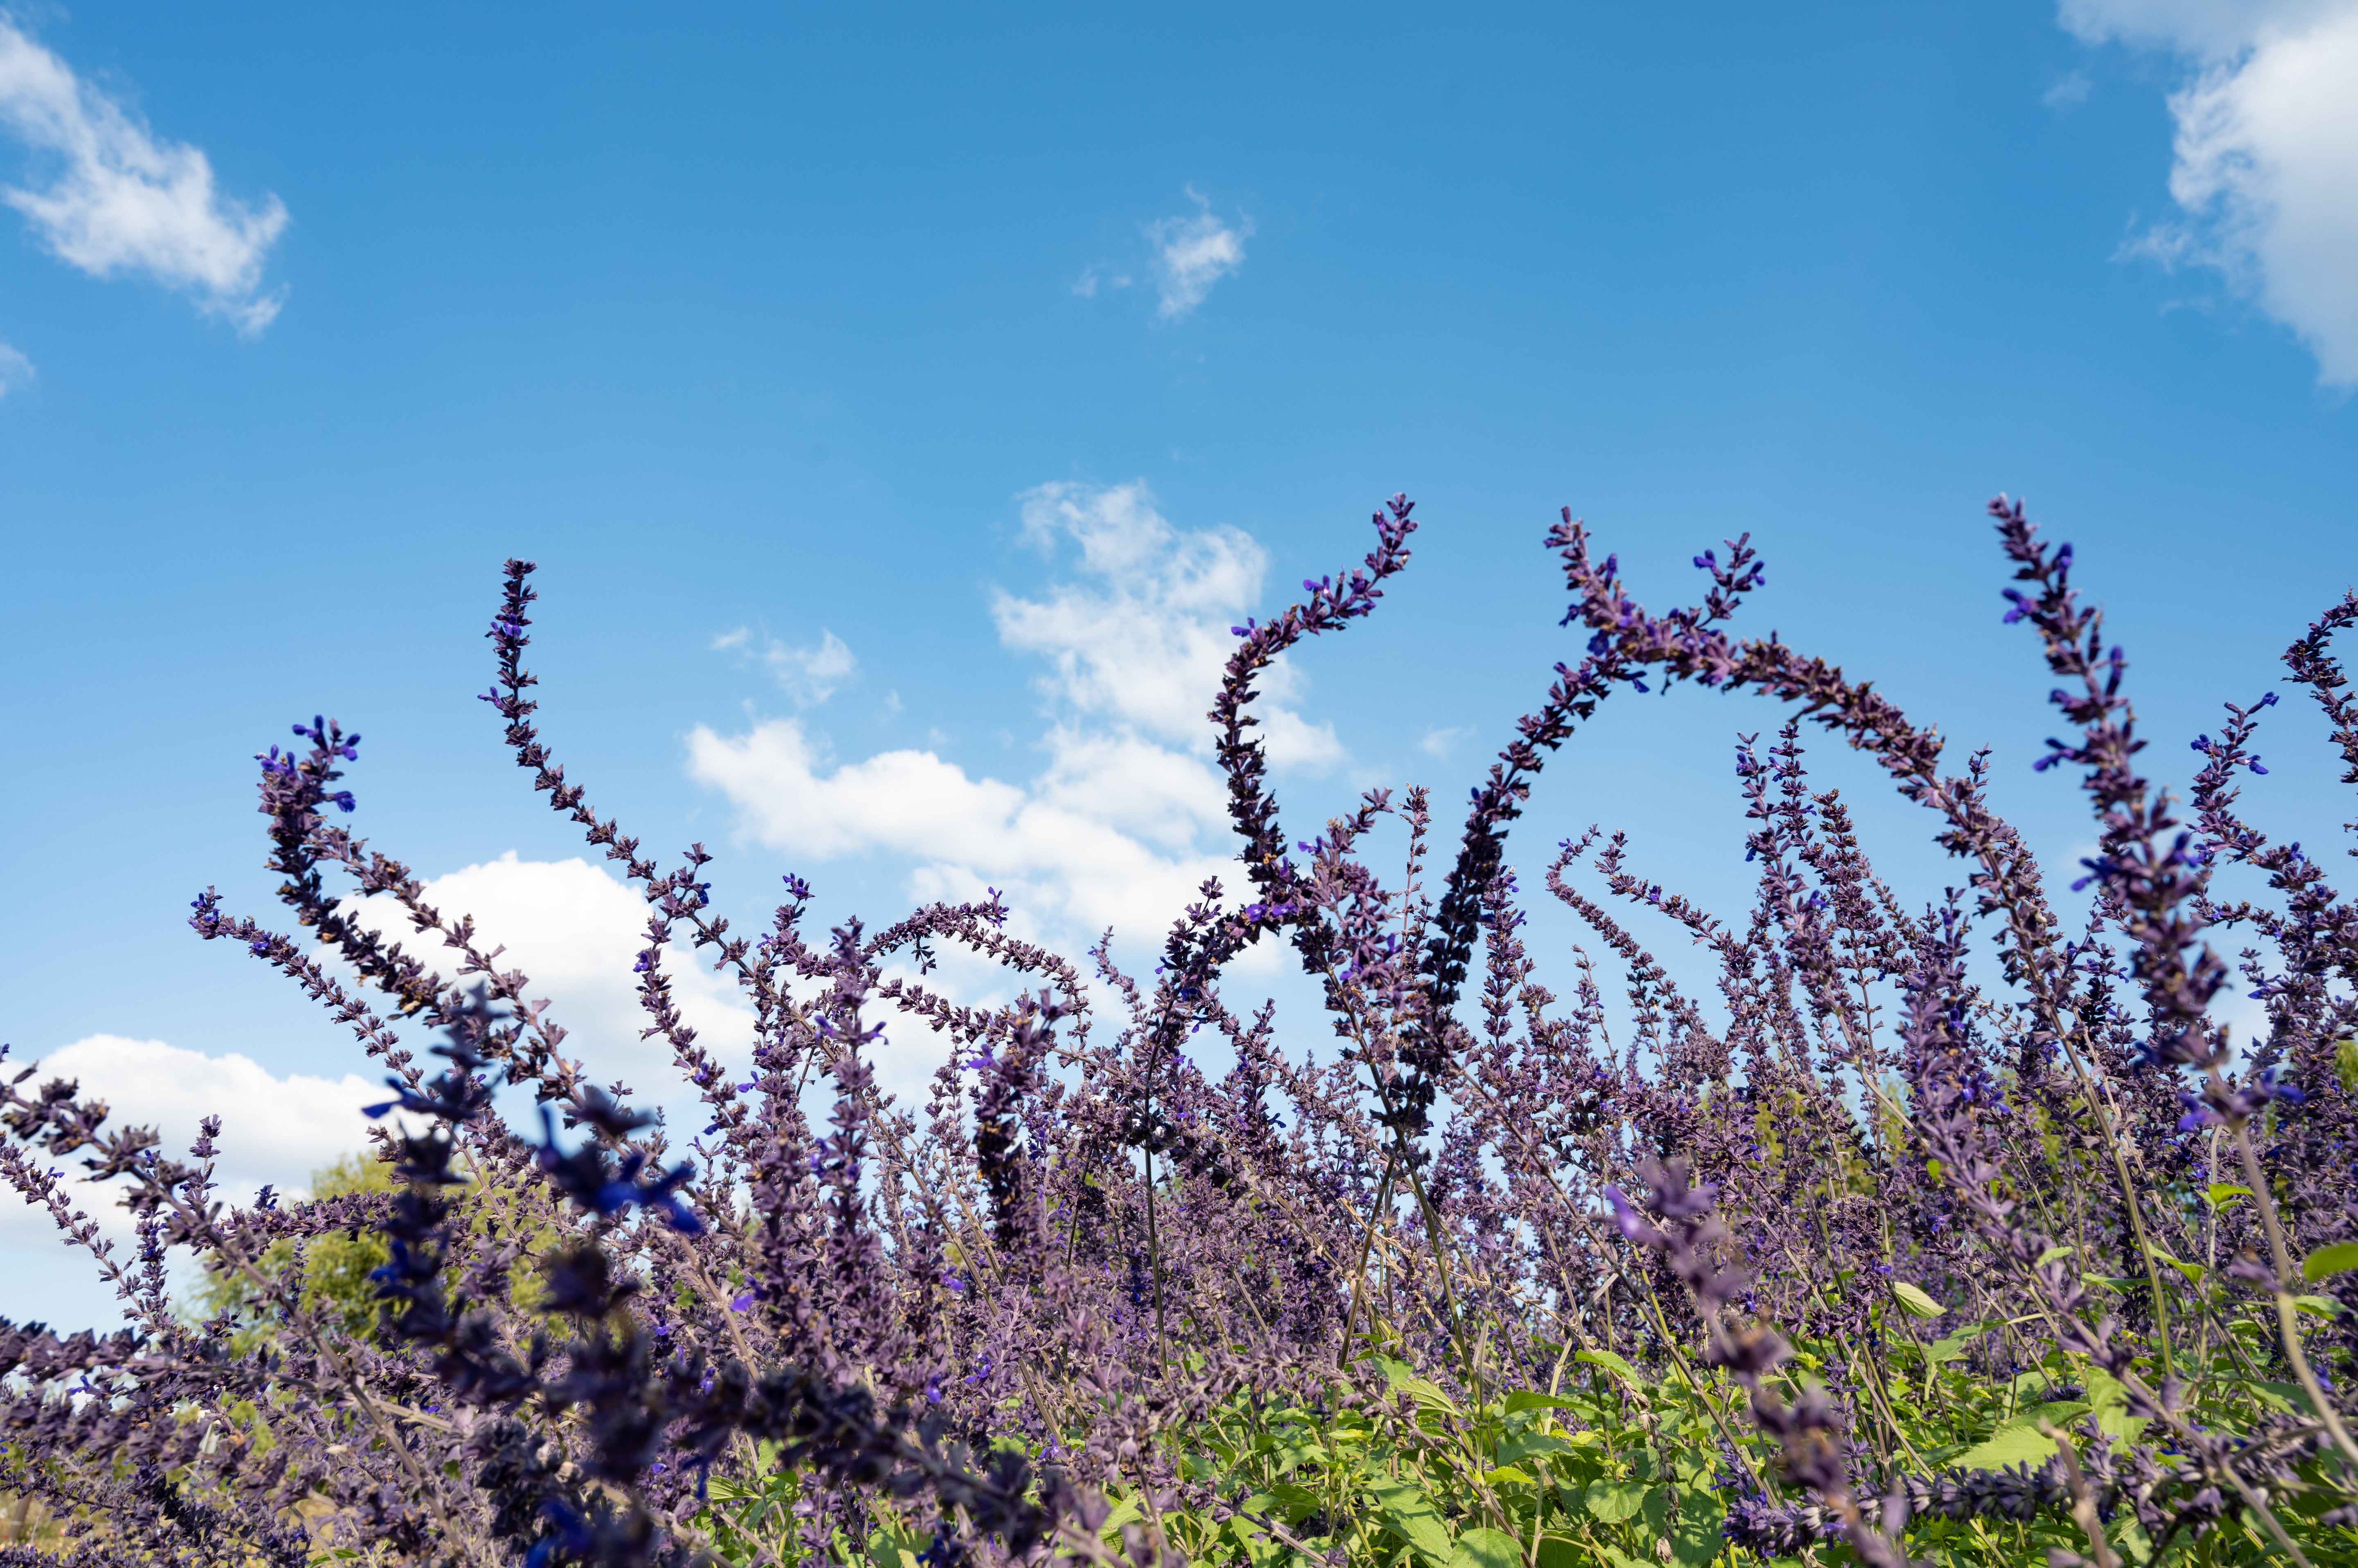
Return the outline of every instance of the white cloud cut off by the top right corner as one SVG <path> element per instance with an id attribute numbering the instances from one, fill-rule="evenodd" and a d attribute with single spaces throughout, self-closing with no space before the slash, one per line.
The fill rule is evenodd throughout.
<path id="1" fill-rule="evenodd" d="M 2193 71 L 2169 97 L 2184 222 L 2136 250 L 2219 269 L 2318 380 L 2358 384 L 2358 0 L 2066 0 L 2063 26 Z"/>

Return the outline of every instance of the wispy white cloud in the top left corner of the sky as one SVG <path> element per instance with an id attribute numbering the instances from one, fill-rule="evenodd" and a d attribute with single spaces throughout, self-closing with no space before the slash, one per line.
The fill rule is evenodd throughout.
<path id="1" fill-rule="evenodd" d="M 35 189 L 9 186 L 0 200 L 24 212 L 59 259 L 99 278 L 139 271 L 186 288 L 243 332 L 278 314 L 285 295 L 262 292 L 262 262 L 285 229 L 285 205 L 215 191 L 203 151 L 158 141 L 5 17 L 0 130 L 50 165 Z"/>

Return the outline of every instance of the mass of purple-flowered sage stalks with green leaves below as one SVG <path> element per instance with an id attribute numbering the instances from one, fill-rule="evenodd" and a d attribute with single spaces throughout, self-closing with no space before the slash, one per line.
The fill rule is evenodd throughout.
<path id="1" fill-rule="evenodd" d="M 1445 870 L 1424 790 L 1295 842 L 1254 681 L 1377 606 L 1415 531 L 1396 498 L 1361 566 L 1236 630 L 1210 719 L 1247 884 L 1205 884 L 1151 976 L 1014 938 L 995 896 L 821 936 L 788 877 L 769 929 L 733 931 L 700 846 L 665 868 L 549 755 L 533 568 L 509 561 L 486 700 L 641 889 L 646 1033 L 707 1125 L 679 1139 L 590 1082 L 531 981 L 340 825 L 358 736 L 297 726 L 262 757 L 288 924 L 210 891 L 191 924 L 382 1061 L 377 1179 L 233 1207 L 215 1122 L 177 1155 L 73 1082 L 0 1089 L 0 1170 L 130 1318 L 0 1325 L 7 1485 L 52 1521 L 0 1561 L 2353 1561 L 2358 905 L 2238 816 L 2275 696 L 2195 740 L 2181 823 L 2136 771 L 2070 547 L 1993 514 L 2007 618 L 2075 736 L 2040 766 L 2096 811 L 2080 927 L 1993 813 L 1985 755 L 1943 771 L 1865 684 L 1728 634 L 1761 587 L 1747 540 L 1655 615 L 1570 514 L 1549 547 L 1585 653 L 1474 788 Z M 2358 783 L 2330 658 L 2353 620 L 2346 597 L 2285 665 Z M 1509 828 L 1596 705 L 1648 681 L 1794 707 L 1738 747 L 1759 898 L 1724 922 L 1620 837 L 1559 844 L 1544 891 L 1603 960 L 1578 950 L 1559 995 Z M 1912 908 L 1877 879 L 1806 778 L 1809 726 L 1934 813 L 1964 889 Z M 1387 821 L 1391 879 L 1365 851 Z M 354 896 L 403 910 L 415 950 Z M 1717 960 L 1714 1007 L 1632 915 Z M 2228 931 L 2268 1016 L 2245 1052 L 2212 1019 Z M 1318 983 L 1325 1054 L 1221 1000 L 1262 941 Z M 938 990 L 946 948 L 1016 1000 Z M 684 955 L 743 990 L 750 1075 L 681 1021 Z M 875 1085 L 887 1026 L 941 1045 L 922 1106 Z M 71 1207 L 66 1155 L 120 1186 L 127 1257 Z M 356 1247 L 380 1250 L 368 1311 L 321 1285 Z M 203 1320 L 170 1297 L 174 1254 L 210 1273 Z"/>

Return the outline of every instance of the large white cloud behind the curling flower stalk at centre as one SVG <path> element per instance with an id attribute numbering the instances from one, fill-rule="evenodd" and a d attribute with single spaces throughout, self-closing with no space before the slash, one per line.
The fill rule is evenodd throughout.
<path id="1" fill-rule="evenodd" d="M 1035 778 L 974 776 L 938 750 L 842 762 L 799 719 L 743 736 L 698 726 L 689 771 L 773 849 L 905 856 L 920 898 L 988 884 L 1033 929 L 1155 941 L 1205 877 L 1245 887 L 1205 714 L 1236 646 L 1229 627 L 1259 599 L 1269 556 L 1233 528 L 1174 528 L 1144 483 L 1052 483 L 1021 502 L 1033 542 L 1078 547 L 1073 580 L 993 604 L 1000 641 L 1049 663 Z M 1290 667 L 1262 686 L 1271 762 L 1342 759 L 1335 731 L 1287 705 L 1302 691 Z"/>

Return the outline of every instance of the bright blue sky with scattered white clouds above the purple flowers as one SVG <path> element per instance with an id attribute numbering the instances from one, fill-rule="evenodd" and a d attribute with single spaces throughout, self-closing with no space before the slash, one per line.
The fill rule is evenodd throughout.
<path id="1" fill-rule="evenodd" d="M 248 757 L 314 712 L 356 828 L 665 1080 L 627 896 L 469 700 L 507 554 L 571 773 L 740 917 L 993 882 L 1132 955 L 1226 854 L 1219 634 L 1394 490 L 1415 566 L 1278 703 L 1304 835 L 1462 799 L 1573 651 L 1561 505 L 1653 604 L 1750 531 L 1754 630 L 1995 747 L 2061 863 L 1988 495 L 2075 540 L 2179 778 L 2358 575 L 2353 0 L 0 17 L 0 1037 L 222 1111 L 233 1186 L 356 1144 L 373 1078 L 182 924 L 274 908 Z M 1521 858 L 1603 821 L 1740 908 L 1773 724 L 1608 712 Z M 2271 724 L 2254 806 L 2325 839 L 2318 724 Z M 1912 898 L 1955 879 L 1825 769 Z M 0 1247 L 0 1313 L 108 1311 L 35 1217 Z"/>

